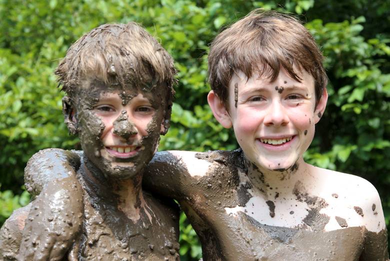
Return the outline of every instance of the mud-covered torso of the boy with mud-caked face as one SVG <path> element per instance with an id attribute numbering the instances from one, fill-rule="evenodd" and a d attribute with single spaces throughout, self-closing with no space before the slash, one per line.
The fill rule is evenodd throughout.
<path id="1" fill-rule="evenodd" d="M 146 202 L 133 222 L 112 193 L 78 175 L 84 190 L 84 221 L 78 260 L 179 260 L 178 212 L 173 201 L 143 191 Z M 165 199 L 164 199 L 165 200 Z"/>

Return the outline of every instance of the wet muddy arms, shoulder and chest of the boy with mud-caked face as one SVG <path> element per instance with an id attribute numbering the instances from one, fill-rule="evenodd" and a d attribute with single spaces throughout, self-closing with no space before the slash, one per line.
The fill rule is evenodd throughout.
<path id="1" fill-rule="evenodd" d="M 74 159 L 75 165 L 69 164 L 68 159 L 64 159 L 66 156 Z M 111 192 L 106 177 L 102 173 L 93 177 L 87 175 L 85 158 L 80 162 L 79 156 L 84 155 L 46 149 L 33 156 L 36 160 L 29 161 L 28 189 L 37 196 L 33 205 L 29 203 L 19 208 L 1 228 L 0 246 L 6 251 L 1 253 L 0 260 L 18 260 L 16 254 L 22 242 L 28 244 L 23 246 L 23 252 L 32 251 L 35 258 L 48 258 L 50 248 L 42 247 L 45 242 L 54 245 L 54 250 L 63 248 L 50 260 L 179 260 L 177 204 L 161 196 L 156 199 L 143 190 L 145 210 L 141 208 L 140 218 L 132 221 L 118 210 L 117 195 Z M 64 173 L 60 166 L 69 171 L 78 169 L 77 174 L 67 176 L 68 172 Z M 36 169 L 41 172 L 37 174 Z M 58 174 L 63 174 L 63 182 L 55 180 L 48 185 L 53 191 L 60 191 L 63 198 L 53 200 L 52 195 L 56 193 L 45 187 L 50 180 L 46 174 L 57 170 Z M 68 185 L 75 188 L 69 189 Z M 42 200 L 45 194 L 50 194 L 51 198 Z M 45 209 L 48 211 L 42 211 Z M 44 218 L 44 230 L 41 231 L 39 225 L 26 229 L 29 222 L 33 223 L 38 217 Z M 46 231 L 54 231 L 54 234 L 45 234 Z"/>

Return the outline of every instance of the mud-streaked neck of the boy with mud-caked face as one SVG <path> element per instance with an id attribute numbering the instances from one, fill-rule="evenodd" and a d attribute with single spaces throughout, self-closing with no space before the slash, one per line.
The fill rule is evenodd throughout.
<path id="1" fill-rule="evenodd" d="M 94 186 L 115 195 L 118 210 L 134 222 L 140 218 L 140 209 L 146 206 L 141 186 L 142 172 L 129 179 L 110 178 L 87 159 L 84 159 L 83 169 Z M 150 219 L 148 211 L 145 212 Z"/>

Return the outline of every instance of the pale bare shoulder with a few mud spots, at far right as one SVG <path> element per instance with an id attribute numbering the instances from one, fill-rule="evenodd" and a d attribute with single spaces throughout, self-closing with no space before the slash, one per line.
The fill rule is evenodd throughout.
<path id="1" fill-rule="evenodd" d="M 352 174 L 314 169 L 320 176 L 320 194 L 328 203 L 325 212 L 334 217 L 325 229 L 348 225 L 365 226 L 368 231 L 379 232 L 385 228 L 379 194 L 369 181 Z"/>

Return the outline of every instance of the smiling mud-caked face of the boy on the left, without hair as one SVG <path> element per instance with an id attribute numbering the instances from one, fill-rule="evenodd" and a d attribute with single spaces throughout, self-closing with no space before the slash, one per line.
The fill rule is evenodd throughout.
<path id="1" fill-rule="evenodd" d="M 157 150 L 163 130 L 163 93 L 94 80 L 78 93 L 75 120 L 82 149 L 105 176 L 126 179 Z"/>

